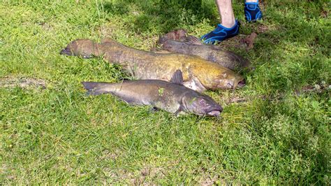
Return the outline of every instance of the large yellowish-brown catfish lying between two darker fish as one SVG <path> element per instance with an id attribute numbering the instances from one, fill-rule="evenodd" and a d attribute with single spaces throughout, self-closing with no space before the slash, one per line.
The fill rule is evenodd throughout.
<path id="1" fill-rule="evenodd" d="M 239 74 L 200 57 L 136 50 L 109 38 L 101 43 L 78 39 L 61 50 L 61 54 L 84 58 L 104 57 L 108 62 L 121 64 L 134 78 L 140 80 L 169 81 L 172 74 L 179 69 L 183 73 L 184 86 L 198 92 L 244 86 L 244 78 Z"/>

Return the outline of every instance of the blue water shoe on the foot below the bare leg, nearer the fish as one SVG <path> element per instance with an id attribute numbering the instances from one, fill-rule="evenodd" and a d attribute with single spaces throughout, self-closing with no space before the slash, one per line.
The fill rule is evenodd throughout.
<path id="1" fill-rule="evenodd" d="M 206 44 L 214 44 L 227 38 L 232 38 L 237 34 L 239 34 L 239 24 L 238 21 L 235 20 L 235 25 L 231 28 L 224 27 L 222 24 L 217 24 L 216 29 L 210 31 L 208 34 L 203 35 L 201 40 Z"/>

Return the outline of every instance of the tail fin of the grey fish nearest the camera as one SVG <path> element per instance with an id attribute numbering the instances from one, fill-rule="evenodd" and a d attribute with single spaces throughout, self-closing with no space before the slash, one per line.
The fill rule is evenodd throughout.
<path id="1" fill-rule="evenodd" d="M 110 94 L 112 92 L 112 83 L 82 82 L 87 95 Z"/>

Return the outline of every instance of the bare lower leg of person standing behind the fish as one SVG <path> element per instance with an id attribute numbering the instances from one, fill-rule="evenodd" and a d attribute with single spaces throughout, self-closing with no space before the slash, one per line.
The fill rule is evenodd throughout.
<path id="1" fill-rule="evenodd" d="M 233 13 L 231 0 L 216 0 L 219 15 L 221 16 L 221 24 L 224 27 L 235 26 L 235 14 Z"/>

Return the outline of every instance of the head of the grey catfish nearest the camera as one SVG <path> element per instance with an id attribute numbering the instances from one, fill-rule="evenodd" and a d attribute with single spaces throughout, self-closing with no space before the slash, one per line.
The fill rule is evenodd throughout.
<path id="1" fill-rule="evenodd" d="M 187 113 L 219 117 L 223 108 L 211 97 L 203 94 L 187 93 L 182 98 L 182 105 Z"/>

